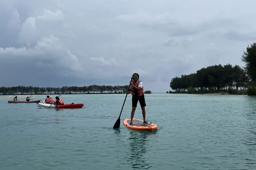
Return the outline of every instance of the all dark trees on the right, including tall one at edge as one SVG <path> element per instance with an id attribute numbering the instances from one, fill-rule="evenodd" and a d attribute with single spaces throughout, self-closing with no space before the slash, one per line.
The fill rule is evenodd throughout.
<path id="1" fill-rule="evenodd" d="M 214 65 L 197 70 L 195 74 L 171 79 L 170 87 L 176 92 L 204 93 L 228 91 L 237 93 L 244 89 L 248 95 L 256 95 L 256 43 L 247 46 L 242 61 L 245 69 L 238 65 Z"/>

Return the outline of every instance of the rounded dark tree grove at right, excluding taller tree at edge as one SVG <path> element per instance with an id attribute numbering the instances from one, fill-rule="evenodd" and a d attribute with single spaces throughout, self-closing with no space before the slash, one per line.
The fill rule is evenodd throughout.
<path id="1" fill-rule="evenodd" d="M 246 89 L 248 76 L 245 69 L 238 65 L 208 66 L 195 74 L 182 75 L 171 79 L 170 87 L 176 92 L 207 93 Z"/>

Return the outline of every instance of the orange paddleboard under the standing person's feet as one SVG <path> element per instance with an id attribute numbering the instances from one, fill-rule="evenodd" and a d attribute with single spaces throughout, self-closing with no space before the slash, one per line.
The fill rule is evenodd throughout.
<path id="1" fill-rule="evenodd" d="M 157 130 L 157 125 L 153 123 L 143 124 L 143 120 L 133 118 L 133 125 L 130 125 L 131 118 L 126 118 L 123 120 L 124 127 L 131 130 L 145 130 L 145 131 L 154 131 Z"/>

